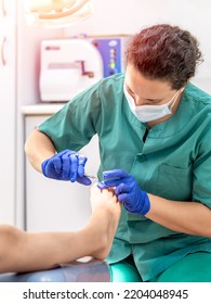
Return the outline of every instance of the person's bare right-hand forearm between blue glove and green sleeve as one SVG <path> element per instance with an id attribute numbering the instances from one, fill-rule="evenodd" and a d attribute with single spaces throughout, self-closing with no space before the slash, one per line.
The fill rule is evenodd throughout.
<path id="1" fill-rule="evenodd" d="M 198 202 L 169 201 L 148 194 L 146 217 L 174 231 L 211 237 L 211 211 Z"/>

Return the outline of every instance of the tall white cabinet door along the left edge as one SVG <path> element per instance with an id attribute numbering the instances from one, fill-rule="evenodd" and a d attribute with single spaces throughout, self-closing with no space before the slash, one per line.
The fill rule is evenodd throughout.
<path id="1" fill-rule="evenodd" d="M 16 14 L 0 0 L 0 223 L 15 221 Z"/>

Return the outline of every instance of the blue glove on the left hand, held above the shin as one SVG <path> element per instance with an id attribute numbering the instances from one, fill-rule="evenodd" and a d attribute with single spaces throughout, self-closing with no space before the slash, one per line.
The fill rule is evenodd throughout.
<path id="1" fill-rule="evenodd" d="M 84 176 L 87 160 L 84 155 L 78 152 L 64 150 L 41 164 L 42 173 L 49 178 L 70 180 L 71 182 L 78 181 L 89 186 L 92 181 Z"/>

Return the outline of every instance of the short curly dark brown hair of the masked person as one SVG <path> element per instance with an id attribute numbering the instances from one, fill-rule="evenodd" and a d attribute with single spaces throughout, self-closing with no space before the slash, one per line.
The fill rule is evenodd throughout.
<path id="1" fill-rule="evenodd" d="M 149 79 L 169 81 L 172 89 L 186 85 L 201 63 L 198 40 L 179 26 L 158 24 L 135 35 L 126 50 L 126 64 Z"/>

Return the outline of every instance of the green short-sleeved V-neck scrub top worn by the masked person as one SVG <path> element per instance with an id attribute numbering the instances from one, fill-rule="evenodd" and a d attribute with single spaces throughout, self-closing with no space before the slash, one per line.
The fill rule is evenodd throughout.
<path id="1" fill-rule="evenodd" d="M 192 84 L 175 114 L 148 131 L 130 111 L 123 74 L 104 78 L 72 98 L 39 126 L 57 152 L 78 151 L 97 134 L 102 172 L 121 168 L 151 194 L 201 202 L 211 208 L 211 97 Z M 143 280 L 149 280 L 188 253 L 211 253 L 211 239 L 170 230 L 122 207 L 113 248 L 116 263 L 133 254 Z"/>

